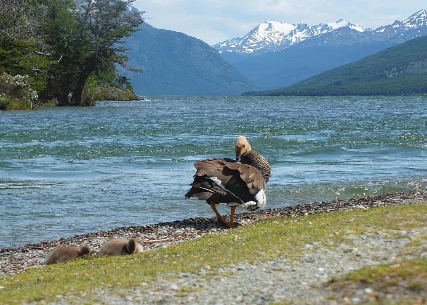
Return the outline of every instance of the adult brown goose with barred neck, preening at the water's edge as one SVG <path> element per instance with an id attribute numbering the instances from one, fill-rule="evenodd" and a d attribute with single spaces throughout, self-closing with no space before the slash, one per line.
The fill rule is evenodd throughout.
<path id="1" fill-rule="evenodd" d="M 237 138 L 235 150 L 236 160 L 213 158 L 193 163 L 197 171 L 185 194 L 186 199 L 206 200 L 218 221 L 230 228 L 234 227 L 236 206 L 254 211 L 266 205 L 265 190 L 271 175 L 268 161 L 252 150 L 246 137 Z M 216 210 L 218 203 L 231 207 L 229 223 Z"/>

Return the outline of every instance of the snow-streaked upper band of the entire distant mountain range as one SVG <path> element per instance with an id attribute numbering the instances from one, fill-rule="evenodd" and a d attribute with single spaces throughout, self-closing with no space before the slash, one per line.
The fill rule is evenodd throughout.
<path id="1" fill-rule="evenodd" d="M 251 55 L 276 52 L 302 41 L 309 42 L 313 38 L 316 38 L 316 42 L 313 41 L 316 44 L 319 44 L 320 41 L 327 44 L 369 43 L 384 41 L 395 35 L 405 35 L 405 33 L 410 34 L 411 38 L 415 38 L 424 35 L 424 30 L 417 31 L 417 29 L 424 29 L 424 27 L 427 27 L 425 9 L 416 12 L 404 21 L 396 20 L 390 25 L 381 26 L 374 30 L 363 28 L 342 19 L 315 26 L 310 26 L 307 23 L 288 24 L 278 21 L 265 21 L 243 38 L 229 39 L 213 45 L 213 48 L 222 53 L 222 56 L 228 60 L 233 61 L 231 56 L 238 56 L 238 59 L 242 59 Z"/>

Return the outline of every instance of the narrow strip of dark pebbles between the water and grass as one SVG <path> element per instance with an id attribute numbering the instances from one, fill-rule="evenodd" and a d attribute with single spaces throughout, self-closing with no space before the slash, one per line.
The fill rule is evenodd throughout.
<path id="1" fill-rule="evenodd" d="M 292 218 L 323 212 L 407 205 L 421 202 L 427 202 L 427 189 L 383 194 L 374 197 L 350 198 L 348 200 L 314 202 L 283 208 L 257 210 L 254 212 L 242 212 L 234 216 L 234 223 L 237 226 L 242 226 L 272 217 Z M 226 215 L 225 218 L 229 219 L 229 215 Z M 221 227 L 215 218 L 199 217 L 145 226 L 121 227 L 106 231 L 89 232 L 70 238 L 26 244 L 16 249 L 4 248 L 0 250 L 0 275 L 20 273 L 30 267 L 41 267 L 44 265 L 44 260 L 51 250 L 66 245 L 85 245 L 96 253 L 102 244 L 110 239 L 135 238 L 143 241 L 144 251 L 147 251 L 167 247 L 170 244 L 177 244 L 182 241 L 193 240 L 206 234 L 221 234 L 227 231 L 228 228 Z M 161 241 L 162 239 L 163 241 Z"/>

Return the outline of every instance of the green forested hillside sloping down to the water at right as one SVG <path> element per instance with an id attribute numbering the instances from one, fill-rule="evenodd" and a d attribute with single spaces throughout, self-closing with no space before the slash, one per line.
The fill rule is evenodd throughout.
<path id="1" fill-rule="evenodd" d="M 427 93 L 427 36 L 393 46 L 289 87 L 246 92 L 243 95 L 405 95 L 424 93 Z"/>

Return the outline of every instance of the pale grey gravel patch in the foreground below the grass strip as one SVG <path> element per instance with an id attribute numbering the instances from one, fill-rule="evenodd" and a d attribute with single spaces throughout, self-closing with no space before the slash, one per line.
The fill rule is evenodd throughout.
<path id="1" fill-rule="evenodd" d="M 401 238 L 395 238 L 395 234 Z M 228 264 L 221 268 L 201 270 L 198 274 L 181 273 L 178 279 L 158 279 L 146 287 L 132 289 L 98 289 L 94 298 L 102 304 L 284 304 L 338 305 L 376 303 L 376 298 L 399 304 L 401 299 L 424 297 L 427 290 L 412 293 L 400 289 L 392 294 L 377 291 L 375 285 L 367 283 L 351 289 L 333 290 L 325 285 L 334 276 L 339 276 L 364 266 L 398 263 L 402 257 L 418 257 L 420 253 L 408 255 L 402 249 L 411 239 L 425 235 L 427 227 L 411 231 L 382 230 L 363 235 L 349 235 L 345 244 L 325 247 L 319 243 L 306 244 L 302 254 L 295 260 L 281 256 L 265 262 Z M 351 244 L 351 246 L 349 246 Z M 423 251 L 419 247 L 419 251 Z M 427 253 L 423 253 L 427 256 Z M 350 290 L 350 291 L 348 291 Z M 78 300 L 78 301 L 83 301 Z M 67 299 L 50 305 L 69 304 Z M 97 303 L 99 304 L 99 303 Z M 405 303 L 409 304 L 409 303 Z"/>

